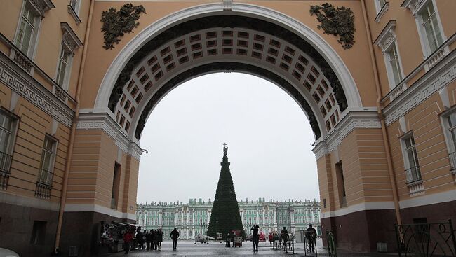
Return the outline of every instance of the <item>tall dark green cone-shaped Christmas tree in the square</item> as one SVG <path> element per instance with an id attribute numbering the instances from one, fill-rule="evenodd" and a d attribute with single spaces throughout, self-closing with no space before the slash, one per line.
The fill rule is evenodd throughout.
<path id="1" fill-rule="evenodd" d="M 224 144 L 222 163 L 220 163 L 222 169 L 215 191 L 212 214 L 210 214 L 208 236 L 217 238 L 217 233 L 221 233 L 223 239 L 226 239 L 229 232 L 239 230 L 245 239 L 246 233 L 243 230 L 241 215 L 239 214 L 227 153 L 228 147 L 227 144 Z"/>

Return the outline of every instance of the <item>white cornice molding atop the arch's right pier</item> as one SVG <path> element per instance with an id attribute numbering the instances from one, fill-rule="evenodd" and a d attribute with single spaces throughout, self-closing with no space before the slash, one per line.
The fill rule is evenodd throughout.
<path id="1" fill-rule="evenodd" d="M 332 152 L 342 139 L 357 128 L 381 128 L 382 124 L 375 111 L 351 111 L 338 123 L 325 140 L 319 142 L 312 151 L 316 160 Z"/>

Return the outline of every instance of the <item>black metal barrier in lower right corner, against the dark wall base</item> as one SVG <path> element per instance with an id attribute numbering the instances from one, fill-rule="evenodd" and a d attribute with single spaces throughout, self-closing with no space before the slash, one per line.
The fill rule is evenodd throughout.
<path id="1" fill-rule="evenodd" d="M 451 220 L 394 227 L 399 256 L 456 256 L 456 235 Z"/>

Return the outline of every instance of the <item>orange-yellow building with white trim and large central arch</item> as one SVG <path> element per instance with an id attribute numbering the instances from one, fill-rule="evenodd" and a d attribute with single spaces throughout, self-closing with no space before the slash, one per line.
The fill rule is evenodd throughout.
<path id="1" fill-rule="evenodd" d="M 4 1 L 0 247 L 89 256 L 101 222 L 134 223 L 149 113 L 220 71 L 265 78 L 301 106 L 323 235 L 334 230 L 340 248 L 394 251 L 394 223 L 456 221 L 454 10 L 452 0 Z"/>

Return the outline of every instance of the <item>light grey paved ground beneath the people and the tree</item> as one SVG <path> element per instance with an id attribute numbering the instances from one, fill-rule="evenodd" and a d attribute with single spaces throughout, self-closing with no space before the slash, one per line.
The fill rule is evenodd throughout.
<path id="1" fill-rule="evenodd" d="M 285 253 L 283 250 L 274 250 L 269 246 L 269 242 L 260 242 L 260 247 L 257 253 L 253 253 L 253 246 L 251 242 L 243 242 L 241 248 L 225 248 L 222 243 L 209 243 L 209 244 L 194 244 L 191 241 L 179 241 L 177 242 L 177 251 L 173 251 L 173 247 L 170 241 L 164 241 L 161 246 L 161 251 L 146 251 L 136 250 L 130 251 L 128 256 L 293 256 L 293 251 Z M 321 239 L 317 241 L 317 253 L 306 253 L 306 256 L 328 256 L 326 249 L 323 249 Z M 112 256 L 125 256 L 123 253 L 115 253 Z M 304 256 L 304 243 L 295 244 L 294 256 Z M 349 252 L 338 252 L 338 257 L 345 256 L 366 256 L 366 257 L 389 257 L 397 256 L 388 254 L 364 254 L 364 253 L 349 253 Z"/>

